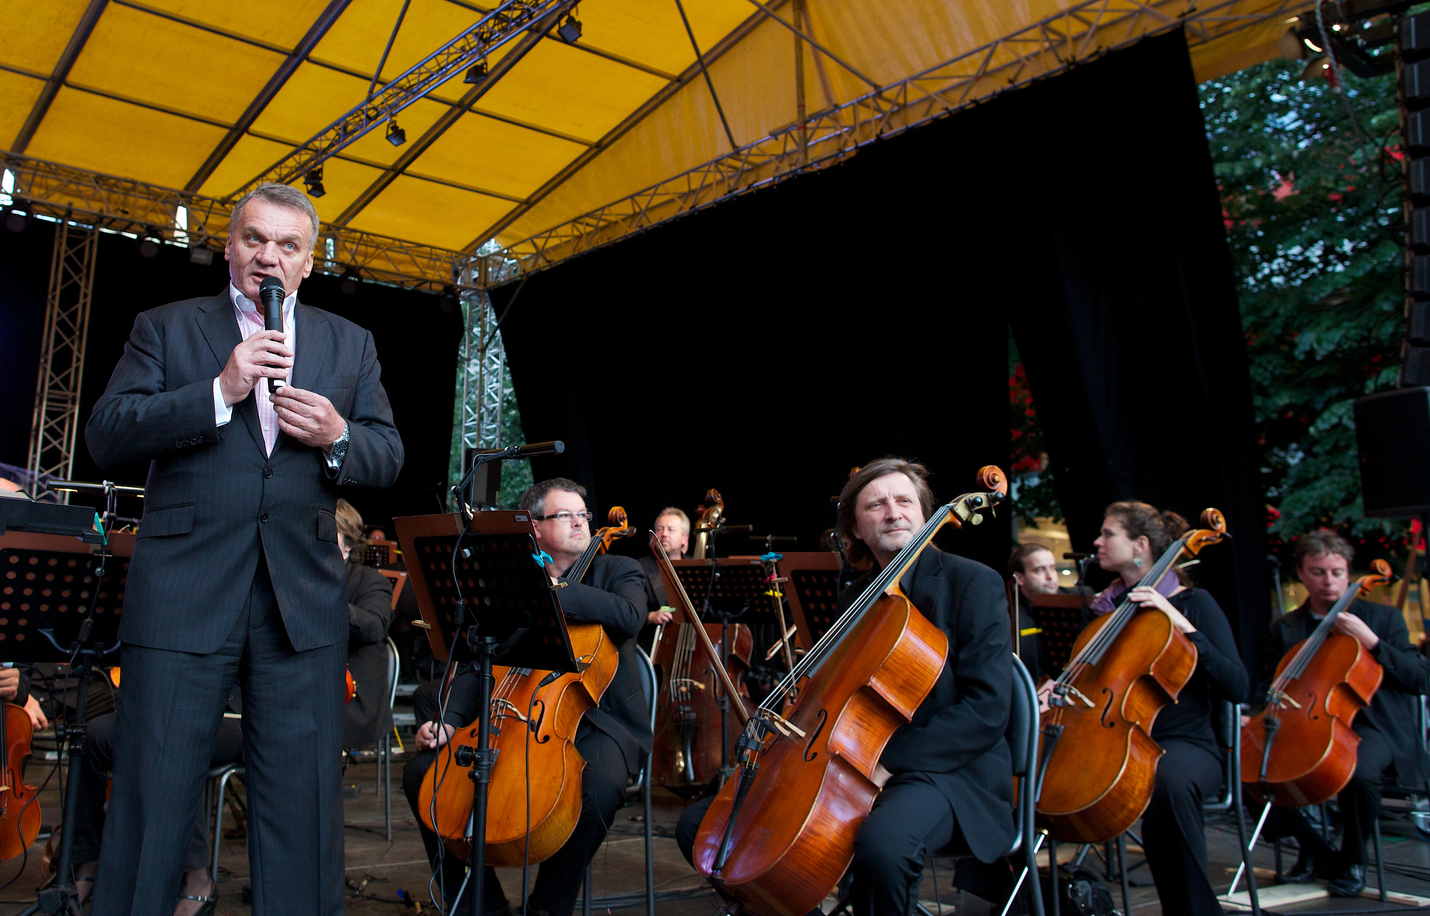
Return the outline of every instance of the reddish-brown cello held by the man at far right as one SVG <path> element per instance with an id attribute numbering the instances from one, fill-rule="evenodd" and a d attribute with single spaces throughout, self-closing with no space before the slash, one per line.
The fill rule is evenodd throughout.
<path id="1" fill-rule="evenodd" d="M 1358 639 L 1336 632 L 1336 617 L 1361 592 L 1391 580 L 1384 560 L 1371 569 L 1281 656 L 1266 709 L 1241 729 L 1241 782 L 1261 802 L 1320 805 L 1356 773 L 1360 736 L 1351 720 L 1370 705 L 1384 672 Z"/>

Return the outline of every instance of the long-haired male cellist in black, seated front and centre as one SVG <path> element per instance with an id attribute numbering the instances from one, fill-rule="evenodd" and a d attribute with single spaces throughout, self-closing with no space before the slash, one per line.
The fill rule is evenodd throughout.
<path id="1" fill-rule="evenodd" d="M 844 610 L 934 512 L 921 464 L 885 457 L 849 477 L 839 496 L 839 536 L 852 562 L 874 572 L 839 593 Z M 1014 837 L 1012 759 L 1004 732 L 1012 692 L 1012 640 L 1002 579 L 932 544 L 901 580 L 914 606 L 948 636 L 938 683 L 879 756 L 882 786 L 854 842 L 857 916 L 914 912 L 924 860 L 962 840 L 982 862 Z M 711 799 L 685 809 L 676 843 L 692 857 Z"/>

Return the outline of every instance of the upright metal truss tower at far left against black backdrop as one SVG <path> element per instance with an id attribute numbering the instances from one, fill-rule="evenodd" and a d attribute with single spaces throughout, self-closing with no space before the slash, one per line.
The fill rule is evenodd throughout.
<path id="1" fill-rule="evenodd" d="M 84 379 L 84 339 L 89 334 L 90 293 L 99 232 L 61 221 L 54 230 L 50 290 L 44 303 L 44 337 L 34 384 L 34 419 L 26 469 L 40 496 L 47 477 L 69 479 L 80 426 L 80 383 Z M 69 502 L 69 493 L 59 497 Z"/>

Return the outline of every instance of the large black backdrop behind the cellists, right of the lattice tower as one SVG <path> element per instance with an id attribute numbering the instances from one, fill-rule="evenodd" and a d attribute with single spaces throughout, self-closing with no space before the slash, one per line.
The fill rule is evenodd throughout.
<path id="1" fill-rule="evenodd" d="M 1180 31 L 535 274 L 503 336 L 528 440 L 568 446 L 536 479 L 642 527 L 716 486 L 814 549 L 854 464 L 919 459 L 941 497 L 1005 466 L 1010 324 L 1075 549 L 1117 499 L 1217 506 L 1195 572 L 1254 662 L 1250 384 Z M 1001 567 L 1008 516 L 948 543 Z"/>

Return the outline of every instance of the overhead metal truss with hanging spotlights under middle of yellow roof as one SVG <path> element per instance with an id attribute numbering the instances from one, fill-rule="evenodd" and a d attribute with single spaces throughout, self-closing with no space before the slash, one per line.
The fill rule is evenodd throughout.
<path id="1" fill-rule="evenodd" d="M 345 146 L 392 119 L 462 70 L 486 60 L 488 54 L 526 29 L 536 24 L 543 29 L 549 27 L 548 19 L 552 14 L 559 14 L 572 6 L 575 6 L 575 0 L 506 0 L 470 29 L 383 86 L 380 91 L 289 151 L 266 171 L 235 191 L 235 197 L 262 181 L 287 184 L 299 176 L 307 174 L 310 169 L 323 164 L 326 159 Z"/>

